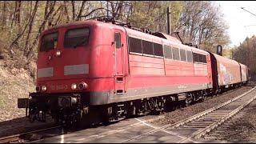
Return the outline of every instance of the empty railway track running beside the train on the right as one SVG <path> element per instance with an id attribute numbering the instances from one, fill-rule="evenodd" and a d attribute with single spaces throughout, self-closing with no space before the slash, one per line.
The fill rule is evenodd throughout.
<path id="1" fill-rule="evenodd" d="M 150 134 L 154 134 L 157 131 L 165 130 L 165 131 L 179 131 L 182 130 L 190 132 L 188 135 L 182 135 L 182 140 L 178 143 L 182 142 L 190 142 L 192 138 L 202 138 L 205 134 L 208 134 L 214 128 L 222 125 L 223 122 L 226 122 L 235 114 L 238 114 L 240 110 L 242 110 L 245 106 L 253 102 L 256 98 L 256 87 L 249 90 L 245 94 L 241 94 L 236 98 L 233 98 L 227 102 L 222 103 L 221 105 L 214 106 L 213 108 L 203 111 L 202 113 L 195 114 L 190 118 L 186 118 L 180 122 L 176 122 L 174 124 L 166 125 L 159 127 L 155 130 L 151 130 L 147 133 L 140 134 L 136 137 L 126 139 L 122 143 L 125 142 L 135 142 L 136 139 L 141 139 Z M 192 133 L 191 133 L 192 132 Z"/>

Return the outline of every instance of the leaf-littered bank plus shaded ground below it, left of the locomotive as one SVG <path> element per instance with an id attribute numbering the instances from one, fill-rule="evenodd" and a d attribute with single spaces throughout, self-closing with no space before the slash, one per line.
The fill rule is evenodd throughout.
<path id="1" fill-rule="evenodd" d="M 47 123 L 30 123 L 25 118 L 25 109 L 18 109 L 18 98 L 28 98 L 34 90 L 33 78 L 26 70 L 6 70 L 0 61 L 0 138 L 24 132 L 31 127 L 44 128 L 52 123 L 50 119 L 47 119 Z"/>

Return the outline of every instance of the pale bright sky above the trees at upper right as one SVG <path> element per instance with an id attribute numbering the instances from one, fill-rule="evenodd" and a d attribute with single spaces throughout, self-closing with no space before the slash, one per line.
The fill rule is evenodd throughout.
<path id="1" fill-rule="evenodd" d="M 256 36 L 256 1 L 215 1 L 215 3 L 222 7 L 224 20 L 230 27 L 228 33 L 231 47 L 239 46 L 246 37 Z"/>

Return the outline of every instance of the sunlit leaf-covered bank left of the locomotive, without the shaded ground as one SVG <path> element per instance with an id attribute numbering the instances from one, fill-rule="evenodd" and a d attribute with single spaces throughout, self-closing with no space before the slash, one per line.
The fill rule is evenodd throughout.
<path id="1" fill-rule="evenodd" d="M 28 98 L 35 89 L 26 70 L 11 74 L 0 66 L 0 122 L 25 116 L 25 109 L 18 109 L 18 98 Z"/>

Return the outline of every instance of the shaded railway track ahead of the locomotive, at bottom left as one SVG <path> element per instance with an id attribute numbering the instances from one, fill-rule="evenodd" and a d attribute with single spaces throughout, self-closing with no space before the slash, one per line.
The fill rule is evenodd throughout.
<path id="1" fill-rule="evenodd" d="M 53 127 L 49 127 L 49 128 L 42 129 L 42 130 L 34 130 L 34 131 L 22 133 L 22 134 L 14 134 L 14 135 L 0 138 L 0 143 L 32 142 L 32 141 L 41 139 L 43 137 L 48 137 L 48 136 L 44 135 L 47 133 L 47 131 L 52 131 L 52 130 L 56 130 L 56 129 L 60 129 L 60 128 L 62 128 L 62 126 L 53 126 Z"/>

